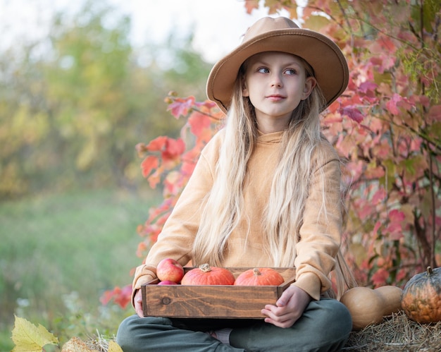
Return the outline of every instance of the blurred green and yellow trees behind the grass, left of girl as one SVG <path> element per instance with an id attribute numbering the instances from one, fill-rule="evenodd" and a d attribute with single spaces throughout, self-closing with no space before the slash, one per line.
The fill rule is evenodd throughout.
<path id="1" fill-rule="evenodd" d="M 136 186 L 137 142 L 178 135 L 182 122 L 166 119 L 163 99 L 172 87 L 202 92 L 209 65 L 192 37 L 179 45 L 172 33 L 167 47 L 135 51 L 129 34 L 128 17 L 89 1 L 75 16 L 54 16 L 49 37 L 1 55 L 1 198 Z M 159 52 L 170 66 L 159 65 Z"/>

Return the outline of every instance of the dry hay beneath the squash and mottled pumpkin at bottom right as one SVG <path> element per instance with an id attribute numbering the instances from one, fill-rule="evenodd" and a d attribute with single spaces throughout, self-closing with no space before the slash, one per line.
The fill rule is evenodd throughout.
<path id="1" fill-rule="evenodd" d="M 343 351 L 441 351 L 441 322 L 419 324 L 404 314 L 383 317 L 383 322 L 352 332 Z"/>

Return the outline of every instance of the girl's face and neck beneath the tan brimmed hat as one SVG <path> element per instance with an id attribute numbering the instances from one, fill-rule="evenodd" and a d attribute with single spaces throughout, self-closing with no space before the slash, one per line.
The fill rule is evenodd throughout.
<path id="1" fill-rule="evenodd" d="M 285 129 L 292 111 L 315 85 L 297 56 L 266 51 L 248 59 L 242 95 L 254 106 L 259 130 L 271 133 Z"/>

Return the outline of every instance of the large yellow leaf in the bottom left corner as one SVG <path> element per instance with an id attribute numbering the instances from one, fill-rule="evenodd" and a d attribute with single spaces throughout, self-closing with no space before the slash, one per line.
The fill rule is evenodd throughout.
<path id="1" fill-rule="evenodd" d="M 15 316 L 11 337 L 15 347 L 12 352 L 41 352 L 47 344 L 58 344 L 58 339 L 41 324 L 36 327 L 24 318 Z"/>

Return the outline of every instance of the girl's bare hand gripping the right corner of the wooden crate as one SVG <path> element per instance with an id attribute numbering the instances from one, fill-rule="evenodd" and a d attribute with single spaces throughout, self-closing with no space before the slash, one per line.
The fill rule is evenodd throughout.
<path id="1" fill-rule="evenodd" d="M 282 293 L 275 305 L 267 304 L 261 312 L 267 316 L 265 322 L 276 327 L 292 327 L 311 300 L 308 293 L 297 286 L 290 286 Z"/>

